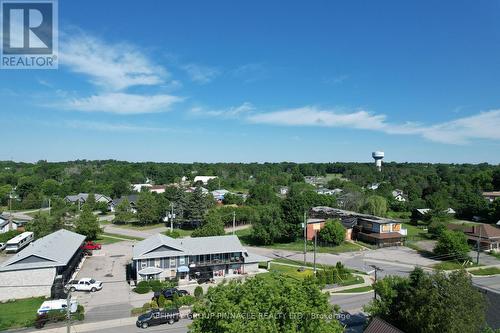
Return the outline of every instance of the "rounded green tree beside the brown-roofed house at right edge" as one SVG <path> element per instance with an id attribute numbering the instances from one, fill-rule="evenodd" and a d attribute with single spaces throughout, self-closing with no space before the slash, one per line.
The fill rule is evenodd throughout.
<path id="1" fill-rule="evenodd" d="M 444 230 L 434 247 L 434 253 L 443 256 L 444 260 L 468 260 L 469 251 L 465 234 L 454 230 Z"/>

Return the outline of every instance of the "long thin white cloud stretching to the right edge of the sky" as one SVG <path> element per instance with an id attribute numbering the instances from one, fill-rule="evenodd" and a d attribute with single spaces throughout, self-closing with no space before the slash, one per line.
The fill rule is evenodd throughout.
<path id="1" fill-rule="evenodd" d="M 384 132 L 387 134 L 418 135 L 425 139 L 466 144 L 472 140 L 500 140 L 500 110 L 491 110 L 449 122 L 425 125 L 421 123 L 390 123 L 385 115 L 364 110 L 339 112 L 313 106 L 248 116 L 251 123 L 283 126 L 342 127 Z"/>

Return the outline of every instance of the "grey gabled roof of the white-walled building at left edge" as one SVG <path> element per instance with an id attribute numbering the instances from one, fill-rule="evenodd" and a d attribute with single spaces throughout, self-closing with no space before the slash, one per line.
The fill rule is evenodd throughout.
<path id="1" fill-rule="evenodd" d="M 34 241 L 5 261 L 0 266 L 0 272 L 65 266 L 84 240 L 84 235 L 58 230 Z"/>

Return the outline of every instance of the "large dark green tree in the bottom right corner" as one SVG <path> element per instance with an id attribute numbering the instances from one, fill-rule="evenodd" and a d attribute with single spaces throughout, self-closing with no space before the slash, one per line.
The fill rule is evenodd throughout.
<path id="1" fill-rule="evenodd" d="M 475 333 L 484 325 L 486 303 L 464 270 L 450 274 L 387 276 L 373 285 L 378 298 L 365 307 L 407 333 Z"/>

